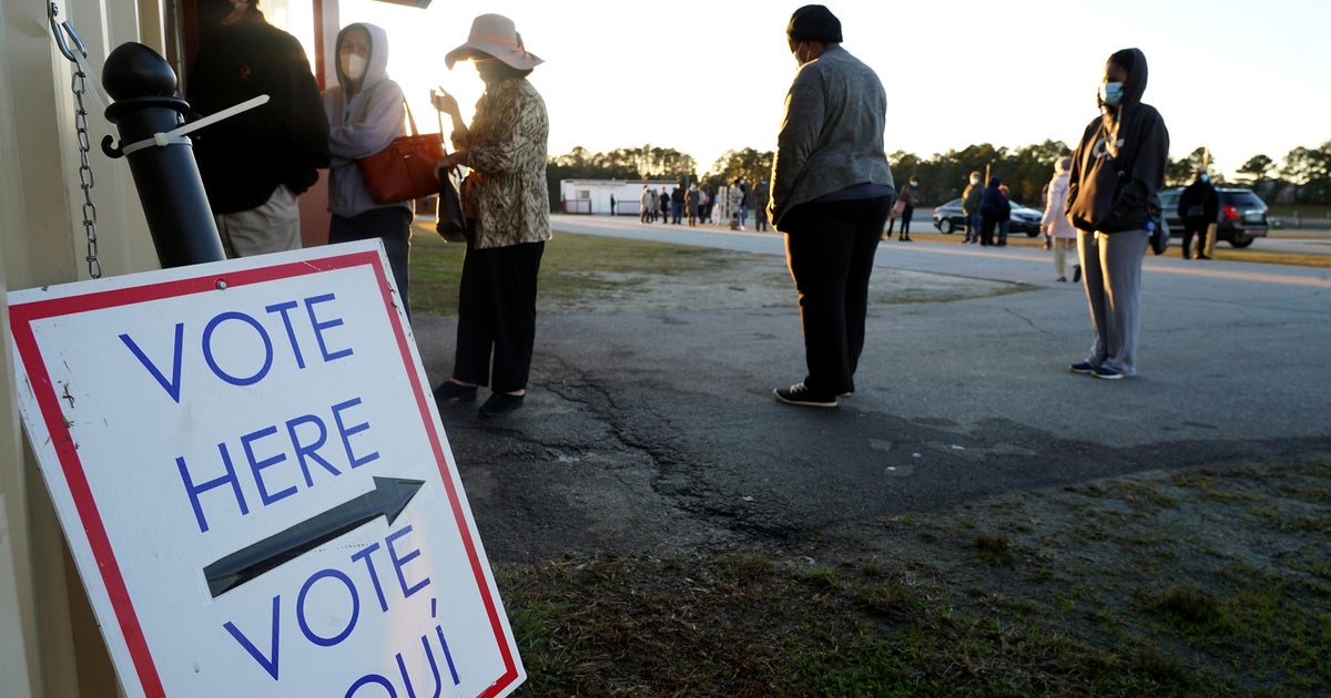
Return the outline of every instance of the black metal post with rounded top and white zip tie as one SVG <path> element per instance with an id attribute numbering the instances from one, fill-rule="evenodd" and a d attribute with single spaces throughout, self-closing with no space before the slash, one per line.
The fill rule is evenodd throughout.
<path id="1" fill-rule="evenodd" d="M 176 72 L 142 44 L 121 44 L 112 51 L 101 82 L 116 100 L 106 108 L 106 120 L 120 130 L 121 148 L 176 130 L 189 113 L 189 104 L 176 90 Z M 110 148 L 109 136 L 101 145 L 106 154 L 122 156 L 120 148 Z M 153 145 L 124 157 L 161 266 L 226 259 L 189 141 Z"/>

